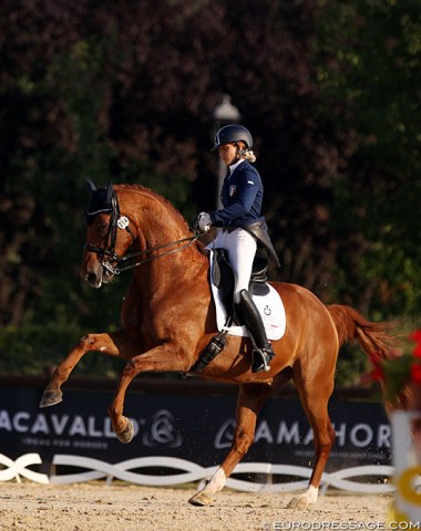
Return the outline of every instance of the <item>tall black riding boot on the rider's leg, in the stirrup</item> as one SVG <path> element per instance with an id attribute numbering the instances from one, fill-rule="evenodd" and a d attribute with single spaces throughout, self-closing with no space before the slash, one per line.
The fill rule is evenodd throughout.
<path id="1" fill-rule="evenodd" d="M 237 313 L 247 326 L 254 346 L 251 372 L 259 373 L 261 371 L 269 371 L 269 363 L 274 358 L 275 352 L 266 336 L 261 316 L 247 290 L 240 291 L 237 306 Z"/>

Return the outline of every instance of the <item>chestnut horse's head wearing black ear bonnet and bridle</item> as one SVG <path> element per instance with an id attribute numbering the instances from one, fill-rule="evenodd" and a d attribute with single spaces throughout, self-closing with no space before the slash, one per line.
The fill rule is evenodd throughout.
<path id="1" fill-rule="evenodd" d="M 86 211 L 86 243 L 81 277 L 92 287 L 101 288 L 117 272 L 122 257 L 133 243 L 126 216 L 120 212 L 117 195 L 110 184 L 96 189 L 88 181 L 91 200 Z"/>

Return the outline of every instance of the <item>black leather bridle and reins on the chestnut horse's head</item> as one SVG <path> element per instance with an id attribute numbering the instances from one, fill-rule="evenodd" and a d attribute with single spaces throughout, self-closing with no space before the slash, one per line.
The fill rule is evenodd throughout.
<path id="1" fill-rule="evenodd" d="M 113 191 L 111 196 L 110 226 L 105 236 L 105 241 L 109 241 L 110 243 L 106 247 L 97 247 L 92 243 L 85 244 L 85 251 L 95 252 L 101 261 L 101 266 L 112 274 L 120 274 L 123 271 L 127 271 L 130 269 L 142 266 L 143 263 L 151 262 L 152 260 L 155 260 L 157 258 L 167 257 L 168 254 L 183 251 L 184 249 L 187 249 L 193 243 L 195 243 L 195 241 L 197 241 L 202 236 L 204 236 L 203 233 L 196 233 L 195 236 L 182 238 L 181 240 L 171 241 L 161 246 L 150 247 L 148 249 L 144 249 L 143 251 L 131 252 L 124 256 L 120 256 L 115 252 L 115 242 L 119 230 L 126 230 L 130 233 L 132 238 L 132 243 L 129 247 L 131 247 L 135 240 L 135 236 L 130 228 L 129 218 L 121 215 L 119 198 L 115 191 Z M 179 243 L 184 244 L 177 247 L 176 249 L 162 252 L 161 254 L 150 256 L 155 251 L 166 249 L 168 247 L 178 246 Z M 136 260 L 137 257 L 142 256 L 144 256 L 145 258 Z M 115 266 L 112 262 L 115 263 Z"/>

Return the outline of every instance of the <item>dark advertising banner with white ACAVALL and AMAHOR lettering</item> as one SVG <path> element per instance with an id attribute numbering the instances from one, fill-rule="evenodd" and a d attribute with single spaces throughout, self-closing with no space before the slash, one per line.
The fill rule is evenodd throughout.
<path id="1" fill-rule="evenodd" d="M 45 409 L 38 407 L 40 398 L 37 389 L 0 389 L 0 454 L 16 459 L 38 452 L 44 464 L 55 454 L 110 464 L 165 456 L 209 467 L 223 461 L 233 440 L 235 396 L 129 393 L 124 414 L 135 428 L 129 445 L 112 430 L 112 393 L 64 389 L 64 402 Z M 381 404 L 331 400 L 330 415 L 337 439 L 327 471 L 390 465 L 390 426 Z M 299 400 L 268 400 L 245 460 L 311 466 L 312 433 Z"/>

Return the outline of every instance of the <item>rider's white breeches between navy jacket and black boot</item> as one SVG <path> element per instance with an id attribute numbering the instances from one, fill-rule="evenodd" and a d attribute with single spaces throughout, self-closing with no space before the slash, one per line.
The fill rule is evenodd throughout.
<path id="1" fill-rule="evenodd" d="M 215 240 L 207 246 L 208 249 L 222 248 L 228 251 L 229 263 L 235 274 L 234 302 L 239 302 L 239 292 L 248 290 L 251 277 L 253 260 L 255 259 L 257 243 L 247 230 L 238 228 L 233 232 L 218 229 Z"/>

